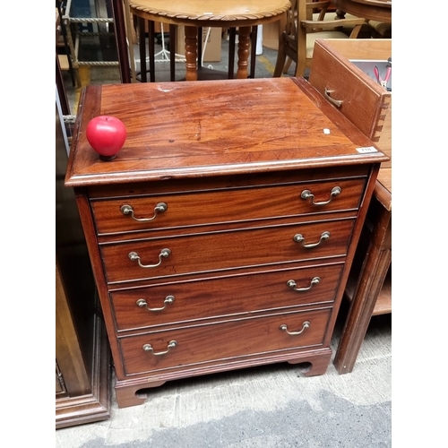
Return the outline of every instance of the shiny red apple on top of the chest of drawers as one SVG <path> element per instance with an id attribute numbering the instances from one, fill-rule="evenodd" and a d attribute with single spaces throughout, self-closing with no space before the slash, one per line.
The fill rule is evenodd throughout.
<path id="1" fill-rule="evenodd" d="M 116 116 L 95 116 L 86 129 L 87 140 L 102 160 L 115 158 L 125 144 L 126 135 L 125 125 Z"/>

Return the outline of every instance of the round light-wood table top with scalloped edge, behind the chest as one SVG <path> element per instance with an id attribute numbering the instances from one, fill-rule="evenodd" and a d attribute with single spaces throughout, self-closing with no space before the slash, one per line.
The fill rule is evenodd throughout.
<path id="1" fill-rule="evenodd" d="M 274 22 L 290 7 L 289 0 L 129 0 L 132 10 L 152 16 L 152 20 L 197 26 L 249 26 L 248 22 Z M 219 22 L 218 24 L 216 24 Z M 224 22 L 224 23 L 222 23 Z M 236 23 L 237 22 L 237 23 Z M 228 25 L 230 26 L 230 23 Z"/>

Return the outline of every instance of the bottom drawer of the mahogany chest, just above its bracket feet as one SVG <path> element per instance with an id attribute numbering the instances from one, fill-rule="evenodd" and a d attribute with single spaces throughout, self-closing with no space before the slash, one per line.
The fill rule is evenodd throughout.
<path id="1" fill-rule="evenodd" d="M 125 375 L 319 347 L 332 308 L 271 314 L 122 338 Z"/>

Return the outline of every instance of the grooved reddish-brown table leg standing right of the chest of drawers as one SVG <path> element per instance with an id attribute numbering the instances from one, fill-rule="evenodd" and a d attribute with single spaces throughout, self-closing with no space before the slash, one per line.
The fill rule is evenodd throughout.
<path id="1" fill-rule="evenodd" d="M 376 299 L 383 288 L 392 258 L 392 213 L 378 207 L 366 258 L 359 273 L 347 321 L 333 361 L 340 375 L 349 374 L 366 336 Z"/>

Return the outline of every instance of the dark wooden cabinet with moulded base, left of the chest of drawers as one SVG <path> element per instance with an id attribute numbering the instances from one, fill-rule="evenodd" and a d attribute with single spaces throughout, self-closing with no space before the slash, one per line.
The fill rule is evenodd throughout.
<path id="1" fill-rule="evenodd" d="M 73 191 L 56 106 L 56 429 L 109 418 L 108 336 Z"/>

